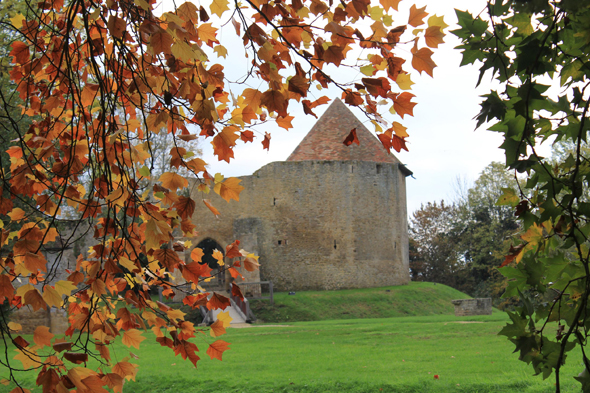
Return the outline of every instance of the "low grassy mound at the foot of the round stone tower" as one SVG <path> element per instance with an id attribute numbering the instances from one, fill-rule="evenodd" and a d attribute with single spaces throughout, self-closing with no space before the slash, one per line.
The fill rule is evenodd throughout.
<path id="1" fill-rule="evenodd" d="M 442 284 L 412 282 L 409 285 L 308 291 L 289 295 L 277 292 L 274 305 L 252 300 L 250 307 L 260 321 L 293 322 L 332 319 L 390 318 L 452 314 L 453 299 L 469 298 Z"/>

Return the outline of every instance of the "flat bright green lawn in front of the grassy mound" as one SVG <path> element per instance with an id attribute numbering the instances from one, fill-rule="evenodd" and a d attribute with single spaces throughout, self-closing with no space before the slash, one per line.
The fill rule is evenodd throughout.
<path id="1" fill-rule="evenodd" d="M 504 314 L 494 313 L 229 329 L 222 338 L 232 349 L 223 362 L 210 360 L 202 339 L 196 341 L 202 344 L 196 370 L 161 348 L 148 332 L 141 350 L 133 350 L 140 356 L 135 361 L 140 365 L 137 382 L 128 382 L 125 392 L 553 391 L 552 377 L 543 381 L 532 376 L 532 368 L 511 353 L 512 344 L 497 336 L 505 321 Z M 127 353 L 119 347 L 118 359 Z M 564 368 L 563 391 L 579 391 L 571 376 L 581 369 L 577 364 Z"/>

